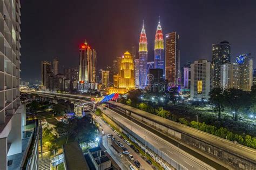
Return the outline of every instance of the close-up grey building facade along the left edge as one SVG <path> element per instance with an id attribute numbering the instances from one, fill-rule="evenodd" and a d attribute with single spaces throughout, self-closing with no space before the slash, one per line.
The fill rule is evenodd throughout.
<path id="1" fill-rule="evenodd" d="M 21 169 L 26 146 L 23 140 L 22 119 L 25 108 L 21 104 L 20 32 L 21 4 L 0 2 L 0 169 Z M 24 120 L 25 121 L 25 120 Z M 24 147 L 22 147 L 24 145 Z M 25 159 L 25 158 L 24 158 Z M 12 162 L 12 164 L 10 164 Z"/>

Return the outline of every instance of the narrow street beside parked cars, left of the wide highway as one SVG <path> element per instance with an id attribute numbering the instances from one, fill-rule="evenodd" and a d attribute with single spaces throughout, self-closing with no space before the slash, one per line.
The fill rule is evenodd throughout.
<path id="1" fill-rule="evenodd" d="M 134 152 L 133 149 L 132 149 L 129 145 L 127 145 L 127 144 L 124 142 L 124 140 L 122 140 L 121 138 L 119 138 L 118 135 L 117 135 L 116 133 L 114 133 L 114 132 L 112 131 L 112 129 L 111 129 L 109 126 L 107 126 L 107 124 L 104 123 L 104 121 L 103 121 L 102 119 L 100 119 L 99 117 L 97 117 L 97 119 L 98 119 L 98 121 L 99 121 L 99 124 L 102 125 L 102 129 L 104 130 L 105 135 L 107 135 L 107 134 L 113 134 L 114 138 L 116 138 L 116 140 L 119 140 L 119 141 L 124 145 L 124 147 L 126 147 L 126 148 L 128 149 L 128 151 L 130 152 L 130 154 L 133 155 L 134 160 L 138 160 L 138 161 L 140 162 L 140 165 L 142 165 L 142 167 L 143 167 L 144 169 L 153 169 L 149 164 L 147 164 L 147 162 L 146 162 L 142 157 L 140 157 L 140 155 L 138 155 L 136 152 Z M 100 131 L 100 133 L 101 133 L 101 131 Z M 127 157 L 127 156 L 125 156 L 125 155 L 123 155 L 123 156 L 124 156 L 124 157 Z M 127 157 L 127 159 L 129 159 L 129 158 Z M 130 161 L 130 162 L 133 162 L 133 161 L 131 161 L 130 159 L 129 159 L 129 161 Z M 133 164 L 133 165 L 134 165 L 134 164 Z"/>

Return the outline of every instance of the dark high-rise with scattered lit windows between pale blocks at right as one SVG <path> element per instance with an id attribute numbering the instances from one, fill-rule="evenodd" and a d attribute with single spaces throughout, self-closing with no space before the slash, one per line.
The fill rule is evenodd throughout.
<path id="1" fill-rule="evenodd" d="M 227 41 L 212 44 L 213 88 L 220 87 L 220 66 L 230 63 L 231 46 Z"/>

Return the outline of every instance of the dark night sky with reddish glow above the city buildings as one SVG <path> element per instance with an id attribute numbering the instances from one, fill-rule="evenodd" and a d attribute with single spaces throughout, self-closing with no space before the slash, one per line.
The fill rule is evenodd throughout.
<path id="1" fill-rule="evenodd" d="M 143 19 L 151 61 L 159 15 L 163 33 L 180 36 L 181 66 L 211 60 L 211 44 L 222 40 L 230 42 L 233 62 L 241 53 L 256 54 L 256 1 L 21 0 L 21 5 L 24 81 L 41 80 L 42 60 L 58 57 L 60 72 L 78 66 L 78 46 L 85 39 L 97 51 L 97 69 L 105 69 L 132 45 L 138 50 Z"/>

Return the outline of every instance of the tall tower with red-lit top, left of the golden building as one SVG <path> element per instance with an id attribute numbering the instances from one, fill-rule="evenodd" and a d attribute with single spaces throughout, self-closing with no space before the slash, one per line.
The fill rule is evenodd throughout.
<path id="1" fill-rule="evenodd" d="M 91 83 L 96 81 L 96 51 L 87 42 L 80 45 L 79 81 Z"/>

